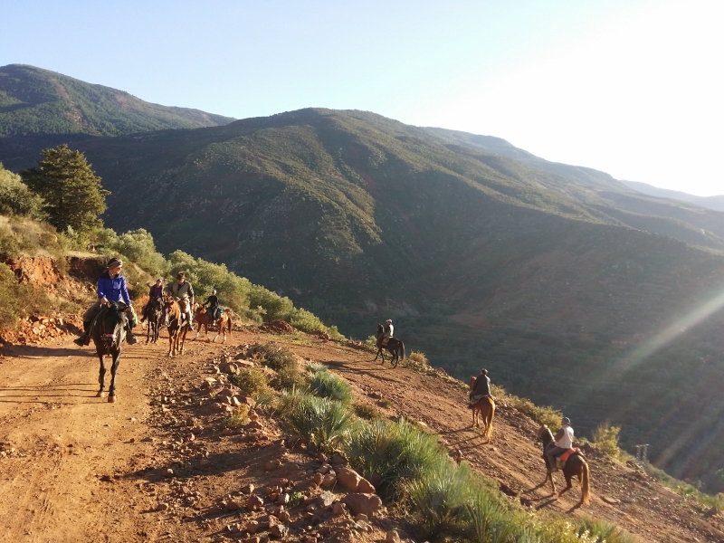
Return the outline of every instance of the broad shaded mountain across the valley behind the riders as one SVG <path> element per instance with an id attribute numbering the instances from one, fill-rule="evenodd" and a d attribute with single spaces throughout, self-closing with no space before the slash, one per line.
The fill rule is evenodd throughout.
<path id="1" fill-rule="evenodd" d="M 106 103 L 112 124 L 122 107 Z M 143 119 L 144 104 L 125 112 Z M 66 122 L 58 111 L 48 126 Z M 392 317 L 434 365 L 488 367 L 584 433 L 620 425 L 624 445 L 651 443 L 680 477 L 714 484 L 724 469 L 724 213 L 365 111 L 110 134 L 11 119 L 0 117 L 5 167 L 60 141 L 81 149 L 117 230 L 225 262 L 357 337 Z"/>

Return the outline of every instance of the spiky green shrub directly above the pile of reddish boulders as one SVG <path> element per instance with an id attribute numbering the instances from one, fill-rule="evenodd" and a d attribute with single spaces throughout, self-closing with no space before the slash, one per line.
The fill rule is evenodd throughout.
<path id="1" fill-rule="evenodd" d="M 352 414 L 346 405 L 334 400 L 300 395 L 287 421 L 308 445 L 331 452 L 347 441 Z"/>

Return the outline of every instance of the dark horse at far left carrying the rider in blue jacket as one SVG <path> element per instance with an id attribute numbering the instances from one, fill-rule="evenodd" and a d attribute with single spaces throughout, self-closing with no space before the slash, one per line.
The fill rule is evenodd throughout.
<path id="1" fill-rule="evenodd" d="M 100 310 L 98 316 L 93 319 L 90 338 L 96 346 L 96 352 L 100 358 L 100 373 L 98 383 L 100 389 L 96 397 L 105 397 L 104 392 L 106 364 L 104 357 L 111 357 L 113 362 L 110 366 L 110 388 L 108 390 L 108 401 L 116 401 L 116 372 L 119 368 L 120 346 L 126 339 L 126 325 L 129 318 L 126 315 L 127 306 L 122 301 L 110 301 L 108 307 Z"/>

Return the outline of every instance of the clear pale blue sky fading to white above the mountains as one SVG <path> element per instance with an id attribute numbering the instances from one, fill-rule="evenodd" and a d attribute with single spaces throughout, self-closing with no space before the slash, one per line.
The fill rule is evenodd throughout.
<path id="1" fill-rule="evenodd" d="M 369 110 L 723 195 L 719 0 L 0 0 L 0 65 L 237 119 Z"/>

